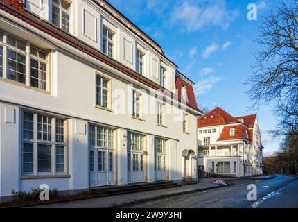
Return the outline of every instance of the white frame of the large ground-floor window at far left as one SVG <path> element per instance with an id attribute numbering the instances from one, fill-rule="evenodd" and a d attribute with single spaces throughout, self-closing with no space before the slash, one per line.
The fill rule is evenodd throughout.
<path id="1" fill-rule="evenodd" d="M 24 123 L 25 123 L 25 118 L 24 118 L 24 114 L 31 114 L 33 115 L 33 119 L 32 124 L 33 124 L 33 135 L 32 137 L 24 137 Z M 39 121 L 38 121 L 38 117 L 46 117 L 46 119 L 51 119 L 51 133 L 49 135 L 51 135 L 51 138 L 46 138 L 46 140 L 44 140 L 44 137 L 42 136 L 42 139 L 39 138 L 39 132 L 41 132 L 39 130 Z M 42 118 L 43 119 L 43 118 Z M 60 119 L 61 121 L 63 121 L 63 127 L 64 127 L 64 142 L 57 142 L 56 141 L 56 119 Z M 43 132 L 43 131 L 42 131 Z M 48 136 L 49 136 L 48 135 Z M 67 119 L 62 118 L 62 117 L 56 117 L 53 116 L 51 114 L 46 114 L 46 113 L 42 113 L 42 112 L 35 112 L 33 110 L 21 110 L 21 175 L 22 176 L 57 176 L 57 175 L 64 175 L 66 176 L 68 173 L 68 145 L 67 145 Z M 32 158 L 33 158 L 33 170 L 32 171 L 24 171 L 24 164 L 26 164 L 26 162 L 24 162 L 24 144 L 32 144 L 33 147 L 33 152 L 32 152 Z M 42 146 L 44 146 L 44 148 L 49 147 L 50 149 L 50 154 L 51 154 L 51 169 L 50 171 L 40 171 L 40 168 L 38 166 L 38 162 L 40 162 L 40 158 L 39 158 L 39 151 L 40 148 L 42 148 Z M 58 148 L 63 148 L 63 162 L 57 162 L 56 158 L 57 158 L 57 150 Z M 63 171 L 58 171 L 58 164 L 63 164 L 64 165 L 64 170 Z"/>

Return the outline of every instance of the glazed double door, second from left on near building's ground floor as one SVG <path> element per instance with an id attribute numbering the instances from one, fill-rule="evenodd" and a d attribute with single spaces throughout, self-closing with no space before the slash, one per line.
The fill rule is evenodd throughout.
<path id="1" fill-rule="evenodd" d="M 145 182 L 144 155 L 140 152 L 130 151 L 128 153 L 128 182 Z"/>

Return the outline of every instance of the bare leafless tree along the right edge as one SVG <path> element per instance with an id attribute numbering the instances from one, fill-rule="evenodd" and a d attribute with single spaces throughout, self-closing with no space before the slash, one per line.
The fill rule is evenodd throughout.
<path id="1" fill-rule="evenodd" d="M 279 120 L 277 135 L 298 133 L 298 0 L 281 1 L 263 18 L 262 45 L 249 77 L 250 99 L 258 107 L 273 103 Z"/>

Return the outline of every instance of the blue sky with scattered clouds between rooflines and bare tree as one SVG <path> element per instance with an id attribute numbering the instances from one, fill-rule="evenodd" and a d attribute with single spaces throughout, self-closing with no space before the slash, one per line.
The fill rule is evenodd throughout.
<path id="1" fill-rule="evenodd" d="M 279 148 L 268 130 L 276 117 L 271 105 L 252 110 L 248 85 L 262 16 L 277 0 L 109 0 L 134 24 L 158 42 L 183 74 L 195 83 L 202 107 L 220 105 L 234 116 L 258 114 L 264 153 Z M 258 6 L 257 21 L 247 19 L 247 6 Z"/>

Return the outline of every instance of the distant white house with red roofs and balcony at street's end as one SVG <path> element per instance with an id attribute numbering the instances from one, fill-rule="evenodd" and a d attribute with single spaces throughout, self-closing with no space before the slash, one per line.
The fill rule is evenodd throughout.
<path id="1" fill-rule="evenodd" d="M 222 176 L 262 174 L 263 146 L 256 114 L 232 117 L 217 107 L 198 119 L 198 170 Z"/>

